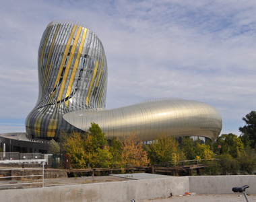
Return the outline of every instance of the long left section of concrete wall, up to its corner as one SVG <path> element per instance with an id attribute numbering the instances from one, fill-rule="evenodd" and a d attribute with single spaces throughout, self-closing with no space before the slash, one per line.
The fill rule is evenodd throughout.
<path id="1" fill-rule="evenodd" d="M 34 189 L 16 189 L 0 191 L 0 201 L 26 202 L 122 202 L 132 199 L 154 199 L 184 194 L 189 191 L 189 177 L 168 177 L 150 180 L 131 180 L 122 182 L 104 182 L 79 184 L 60 187 Z"/>

